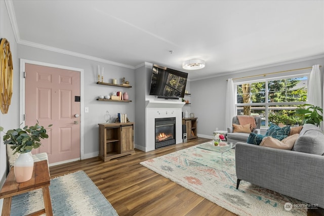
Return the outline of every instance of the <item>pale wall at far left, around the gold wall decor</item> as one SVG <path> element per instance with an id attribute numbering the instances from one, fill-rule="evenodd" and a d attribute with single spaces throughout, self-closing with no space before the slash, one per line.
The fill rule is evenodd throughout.
<path id="1" fill-rule="evenodd" d="M 9 14 L 6 4 L 3 0 L 0 1 L 0 38 L 6 38 L 10 42 L 10 50 L 14 67 L 14 85 L 11 105 L 7 114 L 0 112 L 0 125 L 5 128 L 5 131 L 11 128 L 19 127 L 19 62 L 17 59 L 17 43 L 14 32 L 11 27 Z M 0 188 L 2 188 L 7 177 L 7 156 L 6 146 L 3 144 L 3 134 L 0 136 Z M 0 200 L 0 212 L 2 211 L 3 199 Z"/>

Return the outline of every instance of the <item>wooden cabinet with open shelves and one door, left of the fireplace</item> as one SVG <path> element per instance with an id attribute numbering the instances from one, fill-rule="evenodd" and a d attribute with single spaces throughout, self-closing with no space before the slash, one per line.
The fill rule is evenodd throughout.
<path id="1" fill-rule="evenodd" d="M 134 154 L 134 122 L 99 125 L 99 157 L 104 161 Z"/>

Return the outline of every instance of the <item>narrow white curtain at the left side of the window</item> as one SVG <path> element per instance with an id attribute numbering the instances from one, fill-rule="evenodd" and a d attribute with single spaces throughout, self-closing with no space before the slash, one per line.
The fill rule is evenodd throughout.
<path id="1" fill-rule="evenodd" d="M 234 100 L 234 82 L 233 79 L 228 79 L 225 104 L 225 129 L 232 126 L 232 118 L 236 115 Z"/>

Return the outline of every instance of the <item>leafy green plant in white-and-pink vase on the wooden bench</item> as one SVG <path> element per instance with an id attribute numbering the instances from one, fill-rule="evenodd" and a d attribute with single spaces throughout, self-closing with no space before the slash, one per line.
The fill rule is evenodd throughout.
<path id="1" fill-rule="evenodd" d="M 49 125 L 51 127 L 52 124 Z M 0 132 L 4 128 L 0 126 Z M 14 150 L 13 154 L 20 153 L 14 164 L 14 172 L 16 181 L 26 182 L 31 179 L 34 161 L 28 152 L 32 149 L 39 148 L 42 145 L 41 139 L 49 138 L 44 126 L 38 125 L 38 121 L 34 126 L 24 126 L 16 129 L 9 129 L 4 135 L 4 144 L 10 144 L 10 148 Z"/>

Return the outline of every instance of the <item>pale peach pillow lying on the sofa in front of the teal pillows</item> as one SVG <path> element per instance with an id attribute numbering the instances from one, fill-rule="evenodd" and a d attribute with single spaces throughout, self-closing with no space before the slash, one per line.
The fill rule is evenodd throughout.
<path id="1" fill-rule="evenodd" d="M 263 138 L 262 142 L 260 143 L 260 146 L 292 150 L 297 138 L 298 138 L 298 134 L 289 136 L 281 141 L 278 139 L 275 139 L 273 137 L 265 137 L 265 138 Z"/>

